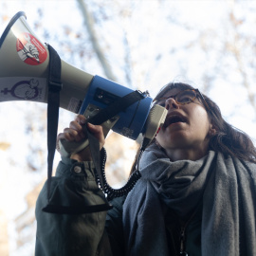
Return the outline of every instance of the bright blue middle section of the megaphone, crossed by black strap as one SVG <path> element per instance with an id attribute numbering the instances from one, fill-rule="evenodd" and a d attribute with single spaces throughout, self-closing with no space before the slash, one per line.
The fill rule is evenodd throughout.
<path id="1" fill-rule="evenodd" d="M 120 85 L 117 82 L 95 76 L 90 83 L 86 97 L 82 102 L 80 114 L 84 114 L 90 107 L 107 107 L 113 101 L 133 92 L 130 88 Z M 142 132 L 149 115 L 153 99 L 146 97 L 141 101 L 132 104 L 125 111 L 119 113 L 119 119 L 112 127 L 112 130 L 122 136 L 137 139 Z"/>

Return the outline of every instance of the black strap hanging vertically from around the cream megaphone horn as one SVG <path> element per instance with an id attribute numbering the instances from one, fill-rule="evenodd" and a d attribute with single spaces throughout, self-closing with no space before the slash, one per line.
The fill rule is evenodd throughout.
<path id="1" fill-rule="evenodd" d="M 63 88 L 61 81 L 62 63 L 61 58 L 52 46 L 48 46 L 49 70 L 48 70 L 48 104 L 47 104 L 47 199 L 50 197 L 51 174 L 53 159 L 56 149 L 58 133 L 60 91 Z"/>

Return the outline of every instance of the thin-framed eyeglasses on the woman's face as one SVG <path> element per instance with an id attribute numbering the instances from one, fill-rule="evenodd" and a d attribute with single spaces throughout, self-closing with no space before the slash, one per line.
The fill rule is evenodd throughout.
<path id="1" fill-rule="evenodd" d="M 157 100 L 155 100 L 155 104 L 165 106 L 165 101 L 172 98 L 174 99 L 177 104 L 179 105 L 185 105 L 189 104 L 192 101 L 194 101 L 197 97 L 199 97 L 202 100 L 202 103 L 204 104 L 206 110 L 210 111 L 210 107 L 208 103 L 206 102 L 203 95 L 200 93 L 198 89 L 188 89 L 178 92 L 175 95 L 169 96 L 169 97 L 162 97 Z"/>

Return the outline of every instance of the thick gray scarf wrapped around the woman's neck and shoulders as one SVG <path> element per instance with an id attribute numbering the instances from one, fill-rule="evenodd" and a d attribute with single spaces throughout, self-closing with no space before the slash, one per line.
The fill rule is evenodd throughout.
<path id="1" fill-rule="evenodd" d="M 256 165 L 209 152 L 171 162 L 155 144 L 143 153 L 141 179 L 123 206 L 127 255 L 169 256 L 163 206 L 180 218 L 203 203 L 203 256 L 256 255 Z"/>

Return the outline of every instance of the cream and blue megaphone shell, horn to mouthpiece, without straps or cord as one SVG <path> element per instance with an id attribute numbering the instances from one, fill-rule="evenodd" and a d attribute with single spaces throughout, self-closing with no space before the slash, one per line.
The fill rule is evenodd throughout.
<path id="1" fill-rule="evenodd" d="M 26 14 L 16 13 L 0 38 L 0 101 L 47 102 L 49 51 L 28 27 Z M 132 92 L 131 89 L 88 74 L 61 60 L 60 107 L 87 118 L 113 101 Z M 166 111 L 152 107 L 152 99 L 144 99 L 119 113 L 106 124 L 125 137 L 137 139 L 139 134 L 152 139 L 164 122 Z"/>

